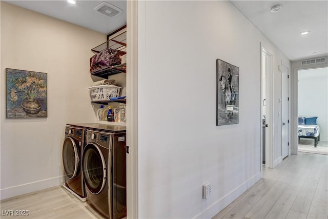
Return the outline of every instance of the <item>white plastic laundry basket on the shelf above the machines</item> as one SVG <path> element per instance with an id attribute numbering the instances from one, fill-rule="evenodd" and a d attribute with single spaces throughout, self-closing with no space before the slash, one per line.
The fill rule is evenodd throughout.
<path id="1" fill-rule="evenodd" d="M 92 101 L 108 101 L 112 97 L 118 97 L 121 87 L 115 85 L 98 85 L 92 86 L 90 95 Z"/>

